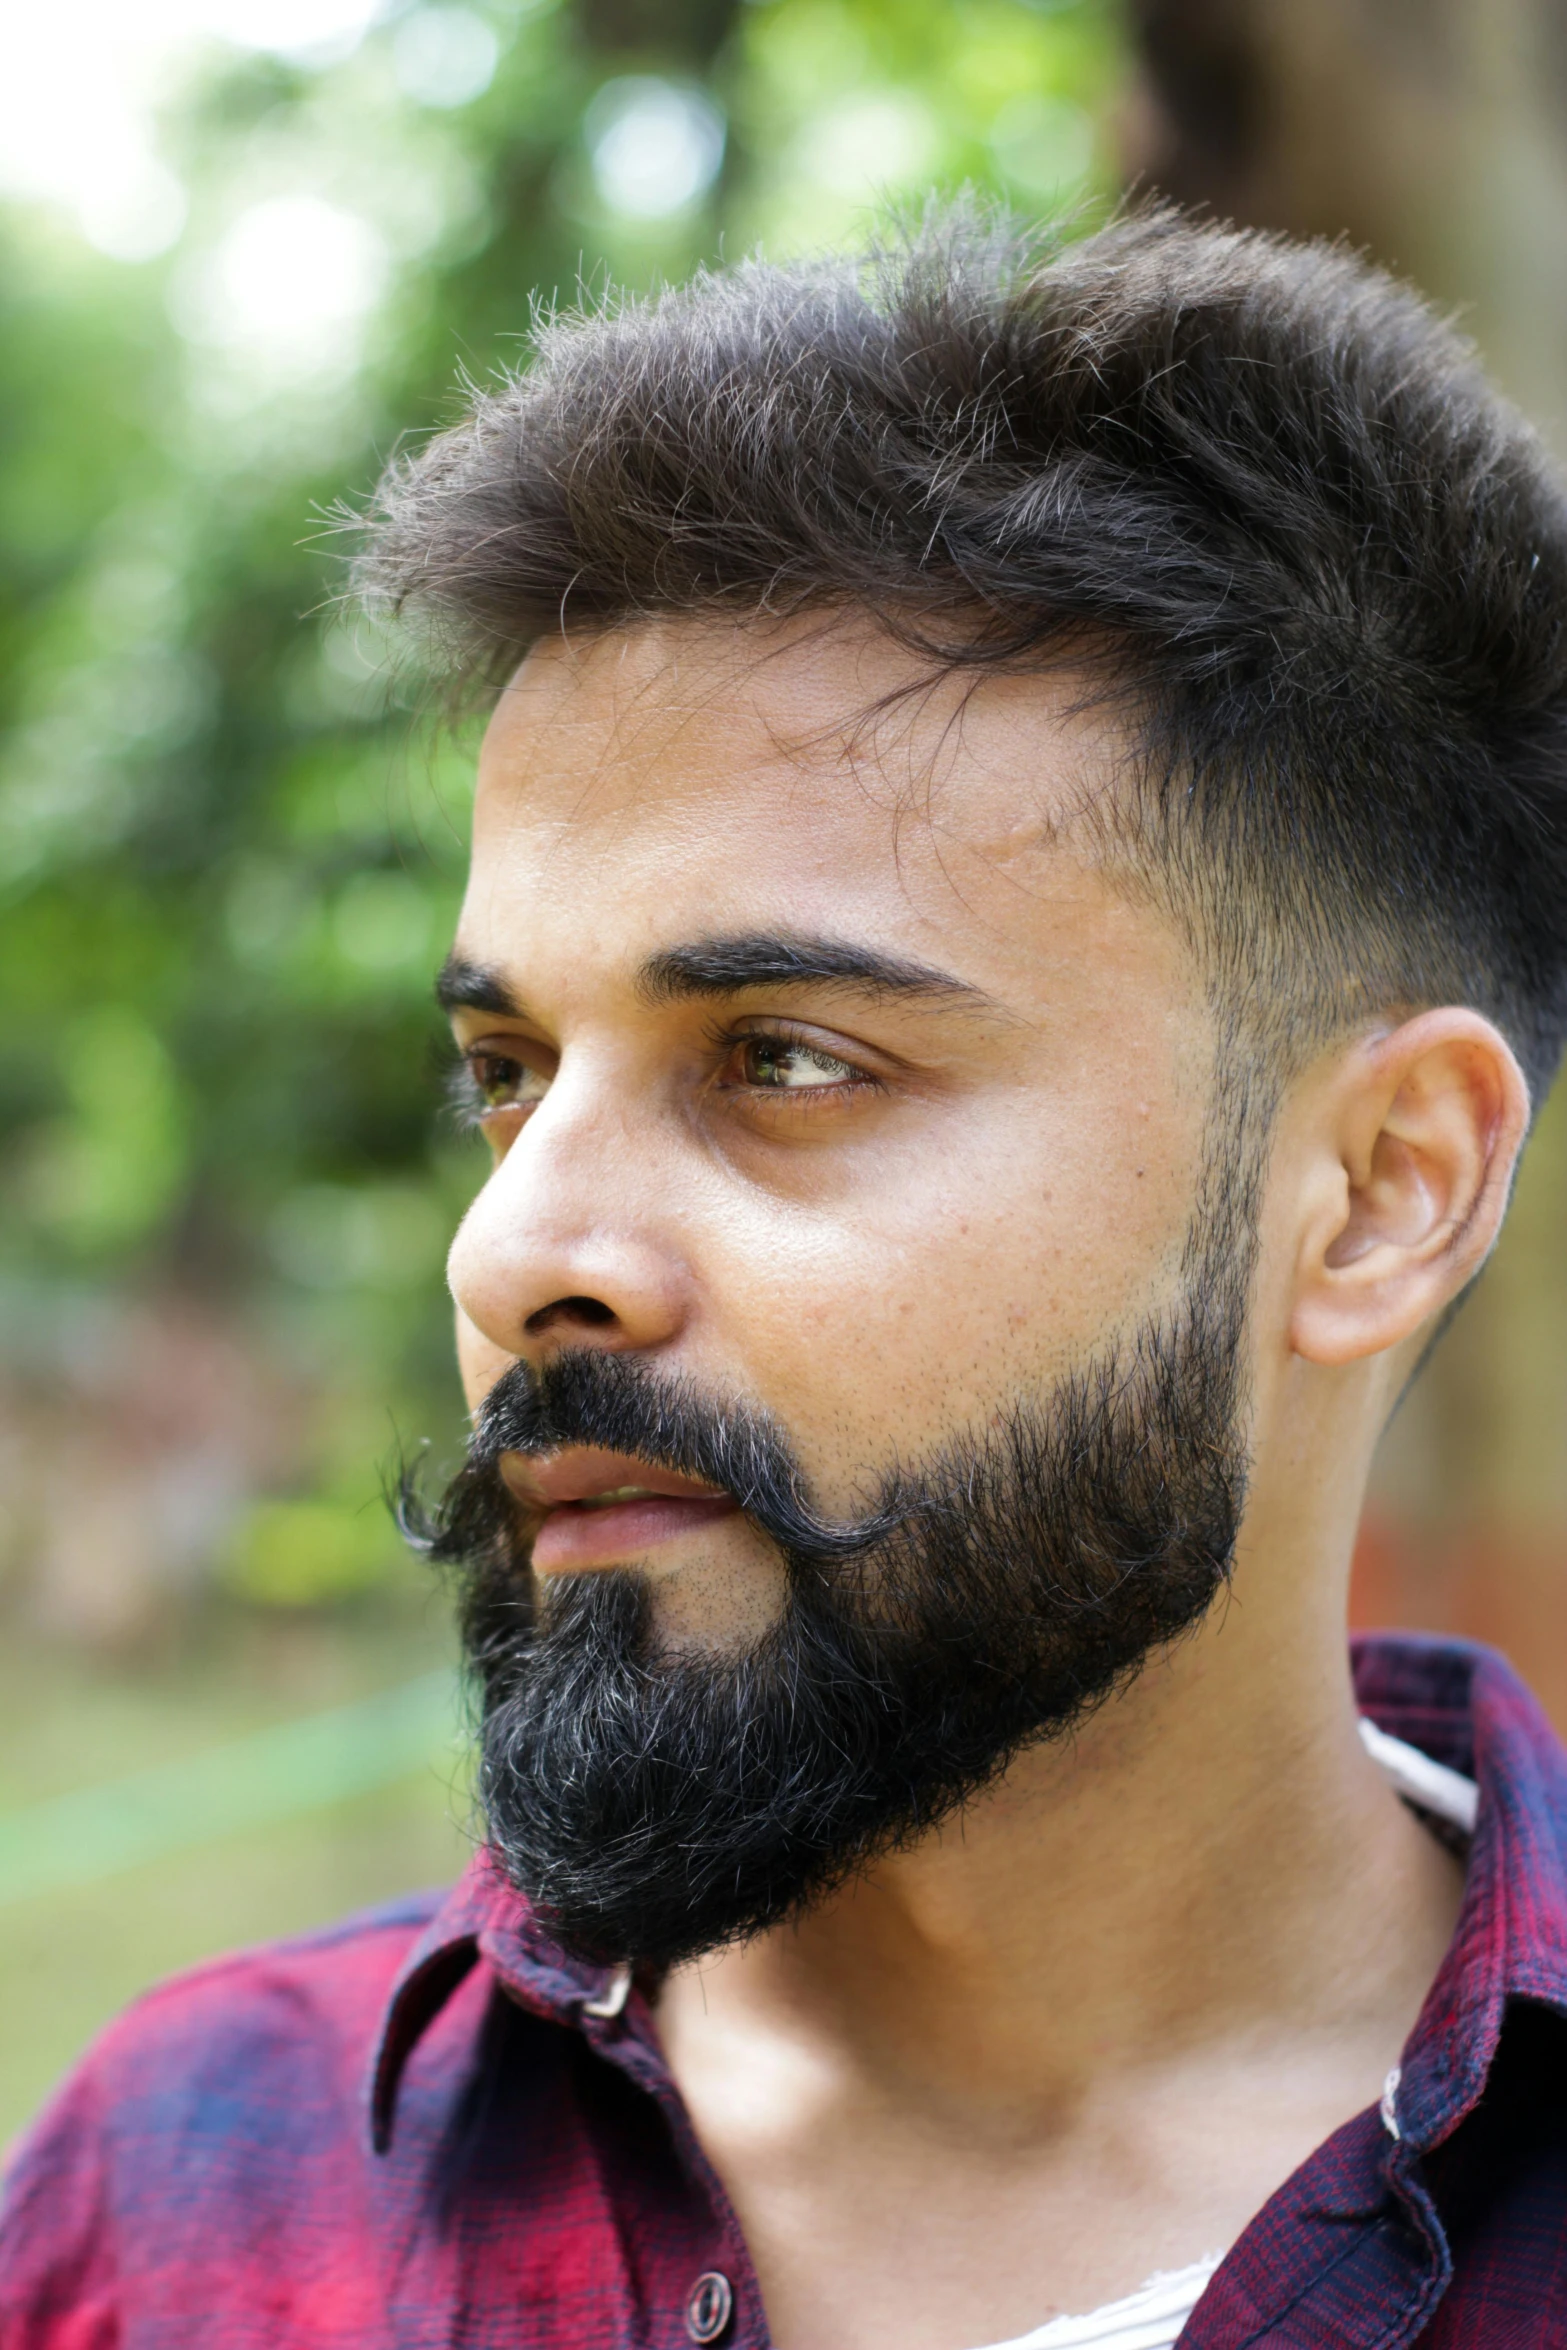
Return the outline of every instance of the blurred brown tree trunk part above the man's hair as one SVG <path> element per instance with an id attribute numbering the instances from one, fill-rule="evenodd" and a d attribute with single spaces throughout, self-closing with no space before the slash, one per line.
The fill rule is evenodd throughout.
<path id="1" fill-rule="evenodd" d="M 1461 308 L 1567 454 L 1560 0 L 1135 0 L 1132 24 L 1132 174 L 1367 247 Z"/>

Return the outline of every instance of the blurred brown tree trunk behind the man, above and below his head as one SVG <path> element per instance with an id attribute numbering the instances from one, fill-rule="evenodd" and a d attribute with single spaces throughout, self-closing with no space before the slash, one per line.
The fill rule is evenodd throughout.
<path id="1" fill-rule="evenodd" d="M 1567 456 L 1562 0 L 1132 0 L 1132 28 L 1128 179 L 1365 247 Z M 1384 1452 L 1363 1619 L 1501 1640 L 1567 1723 L 1567 1088 Z"/>

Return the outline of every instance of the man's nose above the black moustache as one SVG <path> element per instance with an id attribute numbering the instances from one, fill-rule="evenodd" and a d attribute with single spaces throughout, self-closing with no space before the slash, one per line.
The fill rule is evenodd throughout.
<path id="1" fill-rule="evenodd" d="M 557 1076 L 463 1217 L 446 1262 L 484 1351 L 667 1347 L 691 1311 L 658 1121 Z"/>

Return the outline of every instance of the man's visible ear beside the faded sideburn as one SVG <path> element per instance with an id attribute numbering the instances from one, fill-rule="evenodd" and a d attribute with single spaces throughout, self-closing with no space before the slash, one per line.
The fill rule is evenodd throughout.
<path id="1" fill-rule="evenodd" d="M 1290 1344 L 1356 1363 L 1459 1295 L 1501 1229 L 1529 1088 L 1480 1013 L 1360 1039 L 1320 1097 Z"/>

